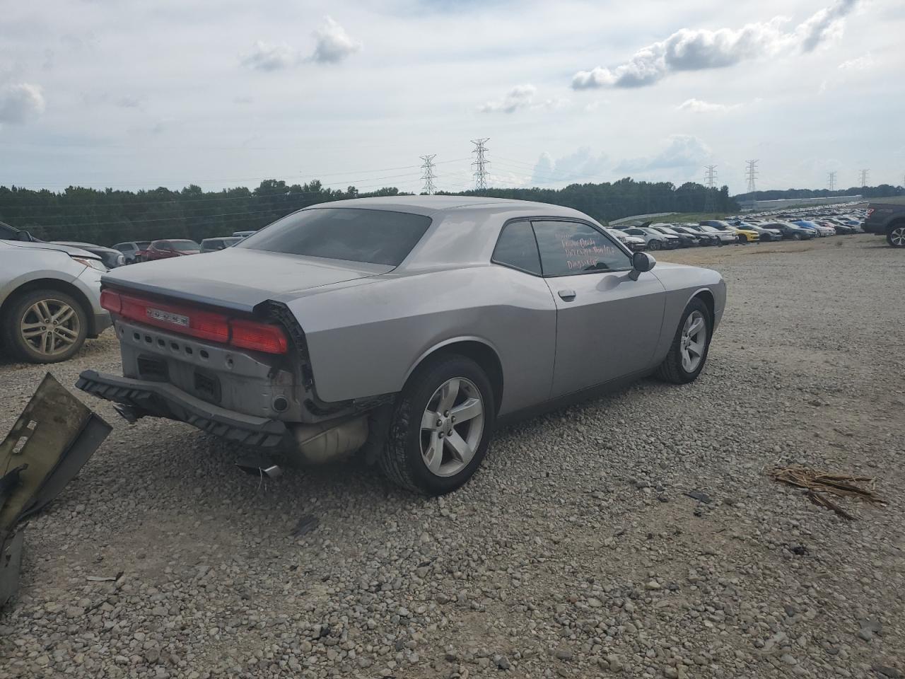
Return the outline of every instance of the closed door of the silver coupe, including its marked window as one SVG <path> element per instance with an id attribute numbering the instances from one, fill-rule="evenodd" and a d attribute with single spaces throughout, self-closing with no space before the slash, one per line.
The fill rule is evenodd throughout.
<path id="1" fill-rule="evenodd" d="M 533 220 L 557 305 L 552 397 L 651 367 L 666 294 L 653 273 L 629 276 L 631 255 L 594 225 Z"/>

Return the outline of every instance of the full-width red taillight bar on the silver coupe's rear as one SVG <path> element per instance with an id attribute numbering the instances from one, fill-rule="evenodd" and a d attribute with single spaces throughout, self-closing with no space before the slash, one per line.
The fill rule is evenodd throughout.
<path id="1" fill-rule="evenodd" d="M 112 290 L 100 293 L 100 306 L 125 319 L 236 348 L 269 354 L 284 354 L 289 349 L 286 334 L 271 323 L 231 319 L 215 311 L 145 300 Z"/>

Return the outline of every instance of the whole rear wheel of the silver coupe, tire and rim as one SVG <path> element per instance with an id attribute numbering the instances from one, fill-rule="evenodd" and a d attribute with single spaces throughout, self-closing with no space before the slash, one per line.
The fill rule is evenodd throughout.
<path id="1" fill-rule="evenodd" d="M 481 465 L 495 422 L 491 381 L 477 363 L 457 354 L 429 359 L 396 399 L 380 467 L 414 493 L 450 493 Z"/>

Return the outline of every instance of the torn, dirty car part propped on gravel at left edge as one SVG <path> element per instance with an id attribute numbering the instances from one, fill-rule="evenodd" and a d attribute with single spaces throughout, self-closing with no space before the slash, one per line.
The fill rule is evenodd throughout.
<path id="1" fill-rule="evenodd" d="M 19 587 L 24 526 L 110 434 L 110 425 L 50 373 L 0 442 L 0 608 Z"/>

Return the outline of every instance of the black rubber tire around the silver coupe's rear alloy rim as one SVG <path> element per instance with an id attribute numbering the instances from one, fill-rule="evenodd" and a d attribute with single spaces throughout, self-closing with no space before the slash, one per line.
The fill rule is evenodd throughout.
<path id="1" fill-rule="evenodd" d="M 468 379 L 481 392 L 483 429 L 471 462 L 459 473 L 439 476 L 424 463 L 421 418 L 437 389 L 452 378 Z M 495 403 L 490 379 L 472 359 L 458 354 L 428 359 L 414 370 L 396 399 L 389 435 L 379 459 L 386 478 L 424 495 L 443 495 L 460 487 L 472 477 L 487 453 L 496 424 Z"/>

